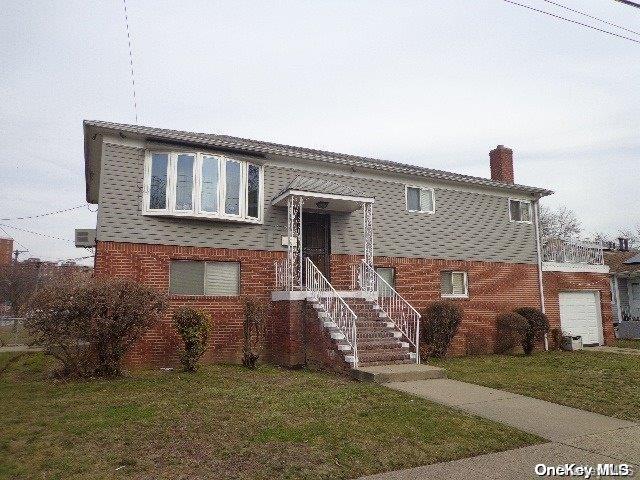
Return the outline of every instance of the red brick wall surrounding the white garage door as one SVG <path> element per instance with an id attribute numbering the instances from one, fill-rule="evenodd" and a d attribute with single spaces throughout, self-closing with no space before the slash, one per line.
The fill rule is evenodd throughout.
<path id="1" fill-rule="evenodd" d="M 609 276 L 603 273 L 543 272 L 544 300 L 551 328 L 560 328 L 561 291 L 597 290 L 600 292 L 600 310 L 605 344 L 614 340 L 613 312 L 611 310 L 611 287 Z"/>

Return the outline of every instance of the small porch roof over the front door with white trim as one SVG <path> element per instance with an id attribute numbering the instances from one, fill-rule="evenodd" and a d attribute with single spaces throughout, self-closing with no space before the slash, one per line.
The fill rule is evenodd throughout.
<path id="1" fill-rule="evenodd" d="M 306 206 L 311 209 L 316 209 L 318 202 L 327 202 L 325 208 L 317 208 L 327 211 L 352 212 L 360 209 L 363 203 L 374 202 L 373 197 L 368 197 L 350 185 L 303 176 L 294 178 L 271 203 L 284 207 L 290 196 L 304 197 Z"/>

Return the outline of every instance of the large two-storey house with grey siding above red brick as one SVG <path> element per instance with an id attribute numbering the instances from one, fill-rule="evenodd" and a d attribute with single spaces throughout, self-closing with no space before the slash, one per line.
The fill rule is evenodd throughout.
<path id="1" fill-rule="evenodd" d="M 270 303 L 265 356 L 286 366 L 417 362 L 419 312 L 440 299 L 465 312 L 455 355 L 491 352 L 496 314 L 521 306 L 586 343 L 613 338 L 601 246 L 540 242 L 552 192 L 514 183 L 502 145 L 481 178 L 102 121 L 84 142 L 96 275 L 169 294 L 132 366 L 176 362 L 181 305 L 212 317 L 205 360 L 239 361 L 244 296 Z"/>

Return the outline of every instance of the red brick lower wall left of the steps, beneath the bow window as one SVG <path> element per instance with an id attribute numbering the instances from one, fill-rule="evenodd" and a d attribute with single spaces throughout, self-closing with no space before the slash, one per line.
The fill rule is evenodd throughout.
<path id="1" fill-rule="evenodd" d="M 170 260 L 226 260 L 240 262 L 241 295 L 271 300 L 275 288 L 275 260 L 282 252 L 229 250 L 205 247 L 175 247 L 135 243 L 98 242 L 95 260 L 97 276 L 128 277 L 169 291 Z M 209 347 L 204 362 L 238 363 L 242 359 L 241 297 L 170 295 L 166 314 L 127 355 L 130 367 L 167 367 L 178 364 L 179 337 L 171 325 L 173 311 L 189 305 L 207 312 L 212 319 Z"/>

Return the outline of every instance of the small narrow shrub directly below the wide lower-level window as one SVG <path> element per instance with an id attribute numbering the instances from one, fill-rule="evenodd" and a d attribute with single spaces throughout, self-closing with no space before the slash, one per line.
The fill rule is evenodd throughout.
<path id="1" fill-rule="evenodd" d="M 200 310 L 180 307 L 173 314 L 173 326 L 184 342 L 184 351 L 180 353 L 180 362 L 187 372 L 195 372 L 198 360 L 207 348 L 209 317 Z"/>

